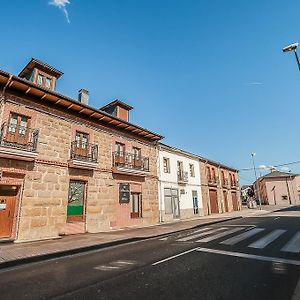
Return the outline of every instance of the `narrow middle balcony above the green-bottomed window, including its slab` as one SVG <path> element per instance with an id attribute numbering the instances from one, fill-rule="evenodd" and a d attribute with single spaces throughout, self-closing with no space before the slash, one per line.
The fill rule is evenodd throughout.
<path id="1" fill-rule="evenodd" d="M 81 169 L 95 169 L 98 163 L 98 145 L 73 141 L 69 166 Z"/>

